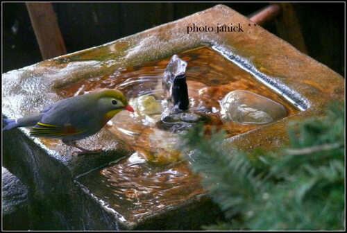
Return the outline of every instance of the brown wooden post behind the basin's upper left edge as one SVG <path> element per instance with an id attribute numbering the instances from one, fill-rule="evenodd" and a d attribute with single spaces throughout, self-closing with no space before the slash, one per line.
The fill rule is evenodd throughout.
<path id="1" fill-rule="evenodd" d="M 52 3 L 26 3 L 43 60 L 66 54 Z"/>

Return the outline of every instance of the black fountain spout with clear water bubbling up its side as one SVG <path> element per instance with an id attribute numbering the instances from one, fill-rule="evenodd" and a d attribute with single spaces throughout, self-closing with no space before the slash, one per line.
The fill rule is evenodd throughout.
<path id="1" fill-rule="evenodd" d="M 187 111 L 189 108 L 186 69 L 187 62 L 173 55 L 162 78 L 164 98 L 174 105 L 176 111 Z"/>

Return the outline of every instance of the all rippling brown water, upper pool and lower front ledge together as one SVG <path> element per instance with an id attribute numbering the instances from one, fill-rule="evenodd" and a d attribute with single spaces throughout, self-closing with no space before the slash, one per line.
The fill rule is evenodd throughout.
<path id="1" fill-rule="evenodd" d="M 178 53 L 178 56 L 188 63 L 186 76 L 190 107 L 203 109 L 211 117 L 208 127 L 217 125 L 224 128 L 230 137 L 261 127 L 258 124 L 222 123 L 220 120 L 219 101 L 236 89 L 270 98 L 284 105 L 288 115 L 299 112 L 247 71 L 209 47 Z M 169 60 L 165 58 L 137 67 L 122 67 L 111 74 L 81 80 L 59 89 L 58 94 L 69 97 L 98 88 L 115 88 L 124 92 L 127 98 L 151 94 L 162 99 L 162 74 Z M 198 176 L 192 175 L 187 162 L 180 160 L 180 153 L 175 148 L 179 143 L 178 135 L 159 130 L 150 122 L 155 120 L 158 119 L 139 119 L 128 111 L 117 114 L 106 128 L 137 153 L 78 178 L 103 205 L 115 209 L 121 219 L 139 221 L 204 192 Z M 146 161 L 167 165 L 153 166 Z"/>

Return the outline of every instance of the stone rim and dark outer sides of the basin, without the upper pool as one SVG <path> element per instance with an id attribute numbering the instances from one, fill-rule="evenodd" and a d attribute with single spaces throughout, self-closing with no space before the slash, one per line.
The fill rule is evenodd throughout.
<path id="1" fill-rule="evenodd" d="M 242 25 L 244 31 L 187 34 L 187 26 L 192 24 L 215 28 L 217 24 L 230 23 Z M 327 103 L 344 98 L 344 79 L 335 71 L 261 26 L 253 26 L 234 10 L 217 5 L 115 42 L 3 74 L 3 114 L 17 118 L 40 112 L 44 106 L 63 98 L 61 90 L 65 87 L 110 74 L 117 78 L 117 71 L 120 74 L 124 67 L 136 70 L 146 62 L 160 61 L 203 45 L 218 51 L 230 64 L 252 76 L 260 87 L 271 89 L 294 109 L 280 121 L 230 135 L 232 137 L 226 139 L 229 148 L 236 146 L 251 151 L 256 147 L 279 147 L 287 143 L 288 121 L 321 116 Z M 202 73 L 201 80 L 203 78 Z M 86 148 L 102 146 L 105 152 L 76 157 L 73 149 L 58 140 L 29 137 L 28 129 L 3 133 L 3 165 L 28 187 L 28 209 L 33 214 L 31 229 L 188 230 L 219 218 L 219 210 L 199 186 L 199 178 L 192 178 L 189 170 L 183 169 L 187 167 L 184 162 L 172 164 L 165 171 L 159 171 L 158 167 L 151 169 L 159 173 L 169 171 L 164 173 L 166 180 L 155 181 L 161 181 L 164 188 L 171 190 L 171 196 L 162 197 L 160 205 L 151 207 L 135 190 L 130 192 L 124 188 L 124 193 L 105 195 L 114 190 L 112 185 L 126 183 L 118 172 L 122 166 L 132 166 L 135 176 L 138 174 L 137 181 L 143 171 L 133 160 L 129 162 L 129 158 L 135 156 L 134 151 L 117 139 L 112 130 L 103 128 L 79 144 Z M 146 178 L 155 176 L 146 174 Z M 192 184 L 189 189 L 185 184 L 181 186 L 185 193 L 169 186 L 170 179 L 176 178 L 170 176 L 172 174 L 189 178 L 187 182 Z M 131 200 L 121 202 L 121 198 Z"/>

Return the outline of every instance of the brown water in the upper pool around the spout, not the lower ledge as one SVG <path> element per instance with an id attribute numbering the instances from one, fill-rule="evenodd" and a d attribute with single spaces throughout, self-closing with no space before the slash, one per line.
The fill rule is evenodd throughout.
<path id="1" fill-rule="evenodd" d="M 276 101 L 285 107 L 286 116 L 299 112 L 283 96 L 271 91 L 252 74 L 208 46 L 184 51 L 178 53 L 178 56 L 187 62 L 189 110 L 204 114 L 203 117 L 208 119 L 206 122 L 208 130 L 212 126 L 218 126 L 227 130 L 228 136 L 232 137 L 261 127 L 259 124 L 223 121 L 220 102 L 226 94 L 234 90 L 246 90 Z M 129 99 L 150 95 L 165 108 L 162 77 L 170 59 L 171 57 L 146 62 L 137 67 L 121 67 L 110 74 L 81 80 L 59 89 L 58 94 L 68 97 L 97 88 L 116 88 L 124 92 Z M 185 68 L 185 63 L 183 64 Z M 131 103 L 133 102 L 130 101 Z M 166 130 L 165 127 L 158 127 L 155 123 L 159 120 L 160 114 L 139 114 L 138 111 L 132 114 L 123 111 L 106 127 L 147 160 L 176 162 L 179 160 L 179 153 L 175 148 L 175 145 L 179 144 L 178 135 Z M 175 128 L 173 130 L 175 131 Z"/>

